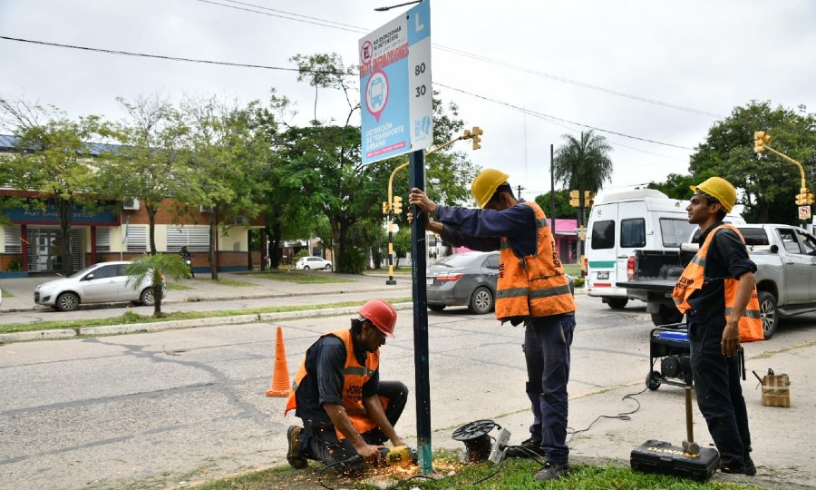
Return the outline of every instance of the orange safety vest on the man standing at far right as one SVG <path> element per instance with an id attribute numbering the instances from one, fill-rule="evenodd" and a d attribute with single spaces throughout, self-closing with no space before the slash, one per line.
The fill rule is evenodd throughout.
<path id="1" fill-rule="evenodd" d="M 685 267 L 680 279 L 677 280 L 675 290 L 672 292 L 672 298 L 675 299 L 675 305 L 681 313 L 685 313 L 691 309 L 688 299 L 691 298 L 696 290 L 703 289 L 705 284 L 708 282 L 705 280 L 704 274 L 705 256 L 708 253 L 708 247 L 711 245 L 711 240 L 714 240 L 714 233 L 723 228 L 733 230 L 737 235 L 739 235 L 740 240 L 743 240 L 743 243 L 745 243 L 745 239 L 743 238 L 743 234 L 740 233 L 740 230 L 737 230 L 736 227 L 727 224 L 718 226 L 712 230 L 707 237 L 705 237 L 703 245 L 700 247 L 700 250 L 697 251 L 695 258 Z M 733 299 L 736 298 L 736 291 L 739 281 L 733 278 L 725 278 L 724 280 L 725 318 L 727 319 L 728 316 L 731 315 Z M 753 342 L 755 340 L 763 340 L 764 338 L 763 318 L 759 309 L 759 301 L 756 298 L 756 288 L 754 287 L 753 293 L 751 294 L 751 299 L 748 300 L 748 306 L 745 307 L 743 316 L 740 317 L 740 342 Z"/>

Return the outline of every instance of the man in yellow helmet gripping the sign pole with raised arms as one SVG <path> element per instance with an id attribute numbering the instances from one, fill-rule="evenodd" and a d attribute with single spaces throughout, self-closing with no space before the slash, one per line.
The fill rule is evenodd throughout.
<path id="1" fill-rule="evenodd" d="M 427 220 L 426 229 L 452 245 L 501 250 L 496 318 L 525 325 L 533 412 L 529 439 L 510 456 L 544 456 L 547 463 L 535 478 L 556 480 L 569 471 L 567 383 L 575 301 L 544 211 L 535 202 L 517 199 L 508 179 L 496 169 L 476 176 L 471 194 L 479 209 L 442 206 L 419 189 L 411 190 L 409 202 L 435 219 Z"/>

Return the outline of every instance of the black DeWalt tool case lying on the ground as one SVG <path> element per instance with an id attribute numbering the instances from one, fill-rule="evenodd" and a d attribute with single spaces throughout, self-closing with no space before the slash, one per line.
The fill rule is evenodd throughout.
<path id="1" fill-rule="evenodd" d="M 700 454 L 692 456 L 683 447 L 652 439 L 632 449 L 629 463 L 636 471 L 682 476 L 704 482 L 719 468 L 720 454 L 711 447 L 701 447 Z"/>

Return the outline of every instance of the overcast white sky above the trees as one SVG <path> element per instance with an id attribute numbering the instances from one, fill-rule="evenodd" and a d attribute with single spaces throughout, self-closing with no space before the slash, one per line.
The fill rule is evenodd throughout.
<path id="1" fill-rule="evenodd" d="M 549 191 L 549 145 L 597 128 L 614 148 L 607 191 L 686 173 L 709 128 L 752 100 L 816 108 L 811 0 L 429 0 L 432 80 L 467 126 L 484 130 L 482 167 L 528 199 Z M 400 15 L 397 0 L 0 0 L 0 35 L 54 44 L 291 68 L 295 54 L 341 54 Z M 312 118 L 296 73 L 190 64 L 0 39 L 0 93 L 70 116 L 122 117 L 115 97 L 184 93 L 248 102 L 269 89 Z M 523 109 L 521 109 L 523 108 Z M 526 110 L 528 113 L 525 113 Z M 317 117 L 344 122 L 339 93 Z M 359 121 L 359 117 L 356 118 Z M 583 124 L 580 125 L 580 124 Z M 605 130 L 605 131 L 599 131 Z M 662 144 L 661 144 L 662 143 Z"/>

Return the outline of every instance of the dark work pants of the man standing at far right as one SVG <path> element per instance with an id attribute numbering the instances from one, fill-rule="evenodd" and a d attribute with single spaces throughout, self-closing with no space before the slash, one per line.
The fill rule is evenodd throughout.
<path id="1" fill-rule="evenodd" d="M 689 321 L 688 338 L 697 406 L 720 452 L 720 460 L 739 472 L 745 467 L 743 458 L 751 451 L 751 433 L 740 385 L 740 357 L 723 355 L 720 347 L 723 329 Z"/>

